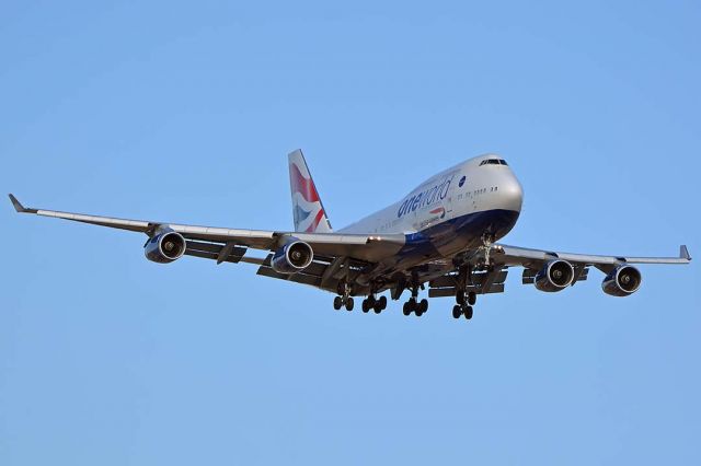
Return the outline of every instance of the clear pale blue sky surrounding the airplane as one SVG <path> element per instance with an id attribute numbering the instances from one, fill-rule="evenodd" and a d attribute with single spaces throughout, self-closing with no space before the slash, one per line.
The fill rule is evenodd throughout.
<path id="1" fill-rule="evenodd" d="M 287 230 L 302 148 L 340 228 L 493 151 L 507 244 L 701 254 L 699 2 L 327 3 L 2 2 L 2 193 Z M 2 202 L 3 466 L 701 464 L 698 261 L 365 315 Z"/>

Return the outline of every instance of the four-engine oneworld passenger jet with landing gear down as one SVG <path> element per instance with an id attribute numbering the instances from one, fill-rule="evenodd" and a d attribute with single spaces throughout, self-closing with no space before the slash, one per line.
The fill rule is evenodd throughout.
<path id="1" fill-rule="evenodd" d="M 257 266 L 257 275 L 302 283 L 336 294 L 333 307 L 364 313 L 387 308 L 404 291 L 403 314 L 423 315 L 428 298 L 452 296 L 455 318 L 471 319 L 480 294 L 504 292 L 506 276 L 522 268 L 521 281 L 560 292 L 586 280 L 591 267 L 605 275 L 601 288 L 613 296 L 639 290 L 632 264 L 689 264 L 687 246 L 678 257 L 571 254 L 496 243 L 516 225 L 524 189 L 510 166 L 495 154 L 469 159 L 432 176 L 400 201 L 342 230 L 333 230 L 301 150 L 288 155 L 294 231 L 239 230 L 171 222 L 125 220 L 25 208 L 21 213 L 72 220 L 145 233 L 147 259 L 169 264 L 183 256 Z M 266 252 L 251 256 L 249 249 Z"/>

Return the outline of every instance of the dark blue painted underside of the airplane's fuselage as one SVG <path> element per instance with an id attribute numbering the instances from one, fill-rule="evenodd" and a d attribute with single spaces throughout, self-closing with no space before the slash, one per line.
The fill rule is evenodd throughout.
<path id="1" fill-rule="evenodd" d="M 397 256 L 397 265 L 443 257 L 440 251 L 479 247 L 485 233 L 494 240 L 504 237 L 516 224 L 519 213 L 504 209 L 473 212 L 407 234 L 406 243 Z"/>

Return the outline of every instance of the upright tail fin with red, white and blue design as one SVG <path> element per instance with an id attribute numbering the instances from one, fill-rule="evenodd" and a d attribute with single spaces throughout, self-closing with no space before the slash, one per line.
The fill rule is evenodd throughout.
<path id="1" fill-rule="evenodd" d="M 331 233 L 331 222 L 309 173 L 304 155 L 299 149 L 288 155 L 289 187 L 292 191 L 292 215 L 295 231 L 307 233 Z"/>

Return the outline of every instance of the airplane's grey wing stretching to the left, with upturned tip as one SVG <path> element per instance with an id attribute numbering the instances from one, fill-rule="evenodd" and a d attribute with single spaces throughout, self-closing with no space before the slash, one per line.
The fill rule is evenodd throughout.
<path id="1" fill-rule="evenodd" d="M 10 195 L 10 200 L 14 209 L 21 213 L 33 213 L 128 230 L 145 233 L 149 236 L 153 235 L 157 230 L 169 228 L 185 237 L 185 255 L 212 259 L 217 264 L 223 261 L 255 264 L 260 266 L 258 275 L 311 284 L 327 290 L 335 290 L 340 278 L 343 278 L 348 272 L 358 272 L 397 254 L 405 242 L 402 234 L 298 233 L 197 226 L 26 208 L 13 195 Z M 314 252 L 314 261 L 302 272 L 289 276 L 275 272 L 269 264 L 272 255 L 266 258 L 245 256 L 248 248 L 274 252 L 290 236 L 308 243 Z"/>

